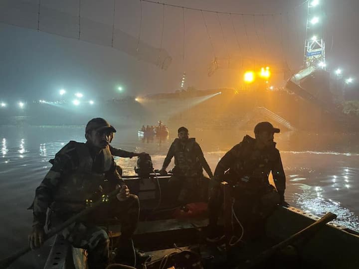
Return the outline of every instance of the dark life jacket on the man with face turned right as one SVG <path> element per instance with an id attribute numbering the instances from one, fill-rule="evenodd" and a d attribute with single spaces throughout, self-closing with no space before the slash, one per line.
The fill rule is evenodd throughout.
<path id="1" fill-rule="evenodd" d="M 279 151 L 275 148 L 256 149 L 255 139 L 246 135 L 234 152 L 236 158 L 226 174 L 237 185 L 260 189 L 269 185 L 268 177 Z"/>

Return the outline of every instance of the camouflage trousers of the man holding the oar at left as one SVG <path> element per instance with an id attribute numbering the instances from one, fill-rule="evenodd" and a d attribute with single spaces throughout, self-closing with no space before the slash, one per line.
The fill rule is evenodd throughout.
<path id="1" fill-rule="evenodd" d="M 76 222 L 62 231 L 62 236 L 75 248 L 88 253 L 89 269 L 105 269 L 109 262 L 109 236 L 98 225 L 106 225 L 108 219 L 116 218 L 121 223 L 121 241 L 128 242 L 139 220 L 140 202 L 130 194 L 125 201 L 117 199 L 90 214 L 86 220 Z"/>

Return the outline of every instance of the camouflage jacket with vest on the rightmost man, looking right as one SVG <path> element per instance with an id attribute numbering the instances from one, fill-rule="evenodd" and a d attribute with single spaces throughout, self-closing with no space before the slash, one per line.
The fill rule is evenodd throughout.
<path id="1" fill-rule="evenodd" d="M 243 186 L 257 188 L 269 184 L 270 172 L 277 190 L 284 191 L 286 178 L 279 150 L 275 145 L 270 148 L 256 148 L 255 139 L 246 135 L 242 142 L 232 147 L 220 159 L 214 176 L 219 181 L 240 181 Z"/>

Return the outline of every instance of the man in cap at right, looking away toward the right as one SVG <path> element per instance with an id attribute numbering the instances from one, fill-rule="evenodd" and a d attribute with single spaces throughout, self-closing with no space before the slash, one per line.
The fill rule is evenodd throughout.
<path id="1" fill-rule="evenodd" d="M 279 133 L 268 122 L 261 122 L 254 128 L 255 138 L 249 135 L 231 148 L 218 162 L 214 172 L 215 181 L 233 185 L 232 195 L 236 203 L 237 217 L 247 236 L 275 208 L 285 204 L 285 174 L 279 150 L 273 141 L 274 133 Z M 269 184 L 268 176 L 272 172 L 276 189 Z M 207 240 L 215 241 L 217 219 L 223 203 L 223 193 L 219 184 L 211 190 L 209 209 L 209 234 Z"/>

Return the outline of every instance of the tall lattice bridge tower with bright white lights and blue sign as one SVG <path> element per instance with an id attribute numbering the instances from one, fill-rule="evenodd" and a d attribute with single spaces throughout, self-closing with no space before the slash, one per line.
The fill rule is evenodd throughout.
<path id="1" fill-rule="evenodd" d="M 321 1 L 308 1 L 307 28 L 304 45 L 304 68 L 315 67 L 326 70 L 325 44 L 323 36 L 323 12 Z"/>

